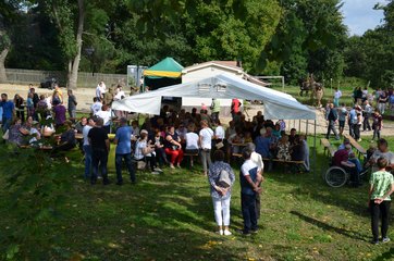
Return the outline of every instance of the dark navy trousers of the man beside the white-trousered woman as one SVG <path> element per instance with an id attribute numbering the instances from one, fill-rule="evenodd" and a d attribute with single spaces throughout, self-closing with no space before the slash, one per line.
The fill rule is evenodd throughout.
<path id="1" fill-rule="evenodd" d="M 241 194 L 242 215 L 244 219 L 244 233 L 257 229 L 256 194 Z"/>

